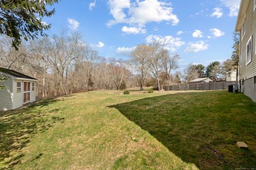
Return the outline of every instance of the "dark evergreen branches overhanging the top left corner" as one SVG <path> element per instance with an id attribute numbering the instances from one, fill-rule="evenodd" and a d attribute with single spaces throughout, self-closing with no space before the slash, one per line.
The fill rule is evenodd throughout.
<path id="1" fill-rule="evenodd" d="M 0 34 L 13 38 L 12 46 L 18 50 L 21 38 L 26 41 L 38 35 L 45 36 L 44 30 L 50 29 L 43 17 L 51 17 L 55 9 L 47 10 L 47 5 L 58 3 L 58 0 L 1 0 L 0 1 Z"/>

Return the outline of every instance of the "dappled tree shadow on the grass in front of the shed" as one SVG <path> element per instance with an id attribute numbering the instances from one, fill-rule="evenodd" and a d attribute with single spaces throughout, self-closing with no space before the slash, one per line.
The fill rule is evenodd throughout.
<path id="1" fill-rule="evenodd" d="M 0 112 L 0 165 L 12 169 L 20 163 L 24 155 L 19 150 L 26 147 L 31 137 L 47 131 L 54 123 L 65 121 L 65 118 L 51 116 L 60 109 L 46 109 L 49 104 L 57 101 L 42 100 L 26 108 Z"/>

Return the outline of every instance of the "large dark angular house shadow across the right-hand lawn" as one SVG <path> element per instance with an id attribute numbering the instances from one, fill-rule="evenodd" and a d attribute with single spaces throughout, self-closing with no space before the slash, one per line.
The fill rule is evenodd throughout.
<path id="1" fill-rule="evenodd" d="M 256 103 L 243 94 L 179 93 L 109 106 L 200 169 L 256 167 Z M 249 144 L 249 150 L 236 147 Z"/>

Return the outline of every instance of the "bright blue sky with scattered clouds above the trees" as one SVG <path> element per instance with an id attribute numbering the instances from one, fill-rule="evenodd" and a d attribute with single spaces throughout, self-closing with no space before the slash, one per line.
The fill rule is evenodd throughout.
<path id="1" fill-rule="evenodd" d="M 47 34 L 79 31 L 101 56 L 129 59 L 141 43 L 165 40 L 180 67 L 230 58 L 240 0 L 62 0 Z M 51 7 L 52 8 L 52 7 Z"/>

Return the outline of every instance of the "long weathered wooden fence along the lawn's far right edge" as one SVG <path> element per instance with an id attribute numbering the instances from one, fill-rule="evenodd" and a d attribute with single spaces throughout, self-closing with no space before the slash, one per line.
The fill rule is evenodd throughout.
<path id="1" fill-rule="evenodd" d="M 210 82 L 210 83 L 189 83 L 170 86 L 162 86 L 165 91 L 180 91 L 180 90 L 225 90 L 228 85 L 238 84 L 238 82 Z"/>

